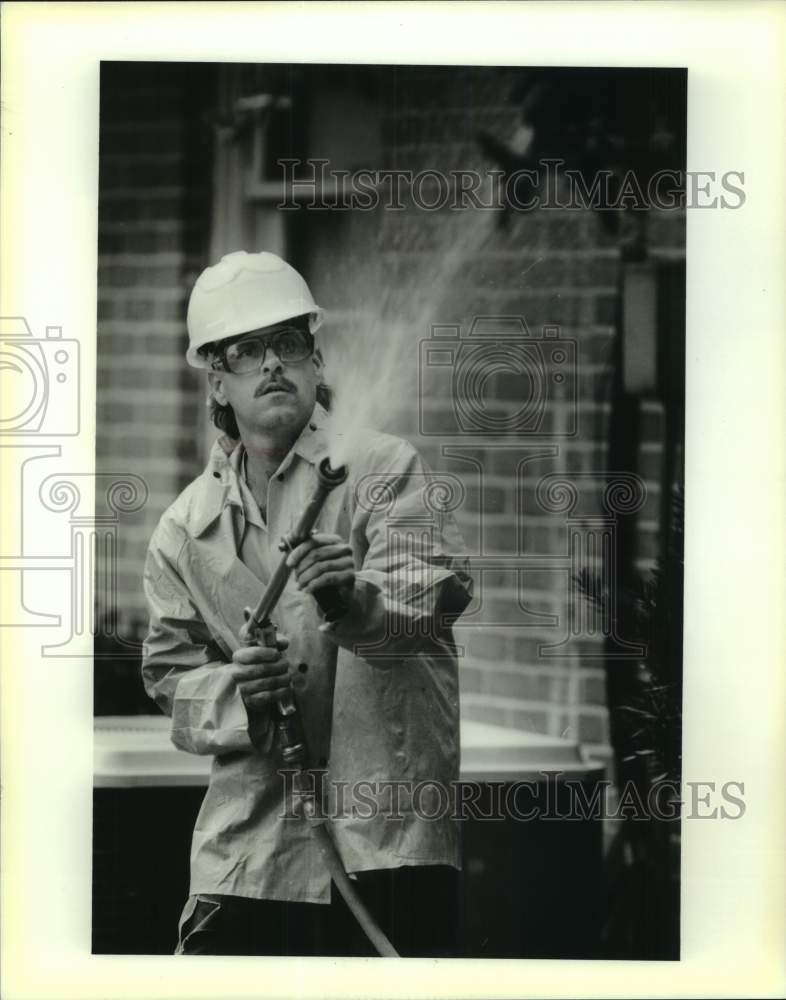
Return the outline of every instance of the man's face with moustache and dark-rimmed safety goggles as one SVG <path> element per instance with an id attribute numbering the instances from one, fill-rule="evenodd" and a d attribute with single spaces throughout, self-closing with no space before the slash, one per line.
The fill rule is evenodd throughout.
<path id="1" fill-rule="evenodd" d="M 253 433 L 290 432 L 297 435 L 311 416 L 317 386 L 322 379 L 318 351 L 292 360 L 291 342 L 282 331 L 291 324 L 277 324 L 244 334 L 225 349 L 232 371 L 208 375 L 213 395 L 222 406 L 229 404 L 241 436 Z M 264 360 L 261 345 L 265 345 Z M 279 357 L 279 351 L 284 357 Z M 245 366 L 251 371 L 237 372 Z"/>

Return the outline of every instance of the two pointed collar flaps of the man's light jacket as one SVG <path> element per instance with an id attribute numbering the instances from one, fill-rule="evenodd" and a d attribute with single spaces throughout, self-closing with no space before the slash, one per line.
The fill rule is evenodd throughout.
<path id="1" fill-rule="evenodd" d="M 279 465 L 279 473 L 285 472 L 296 458 L 317 465 L 328 454 L 328 419 L 327 412 L 317 403 L 308 423 Z M 213 444 L 205 471 L 196 481 L 193 508 L 195 537 L 207 531 L 227 505 L 242 507 L 238 480 L 242 453 L 242 442 L 227 435 Z"/>

